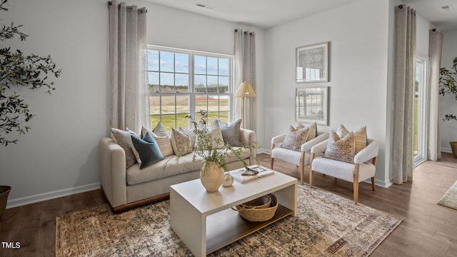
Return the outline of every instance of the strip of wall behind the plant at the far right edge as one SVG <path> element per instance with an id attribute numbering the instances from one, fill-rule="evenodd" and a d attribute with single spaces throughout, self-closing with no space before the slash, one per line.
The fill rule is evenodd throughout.
<path id="1" fill-rule="evenodd" d="M 452 68 L 452 61 L 457 57 L 457 31 L 444 31 L 443 56 L 441 67 Z M 457 101 L 452 94 L 440 96 L 440 114 L 457 115 Z M 441 120 L 441 147 L 443 151 L 451 152 L 450 141 L 457 141 L 457 121 Z"/>

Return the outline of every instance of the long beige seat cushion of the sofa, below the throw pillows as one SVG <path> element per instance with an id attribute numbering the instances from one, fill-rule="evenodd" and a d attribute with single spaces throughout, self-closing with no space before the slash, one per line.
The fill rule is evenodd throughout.
<path id="1" fill-rule="evenodd" d="M 196 156 L 195 162 L 192 161 L 194 153 L 188 153 L 181 156 L 176 161 L 177 156 L 167 156 L 162 161 L 158 161 L 151 166 L 140 169 L 139 165 L 131 166 L 126 170 L 126 179 L 128 185 L 136 185 L 145 183 L 159 178 L 175 176 L 191 171 L 199 171 L 203 166 L 203 158 Z M 249 149 L 243 148 L 243 158 L 249 158 Z M 233 153 L 228 153 L 226 156 L 227 163 L 238 161 Z"/>

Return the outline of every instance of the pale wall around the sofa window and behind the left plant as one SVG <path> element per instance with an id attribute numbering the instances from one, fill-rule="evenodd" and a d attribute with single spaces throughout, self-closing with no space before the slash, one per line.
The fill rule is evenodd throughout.
<path id="1" fill-rule="evenodd" d="M 17 145 L 0 147 L 0 184 L 12 186 L 9 207 L 99 188 L 98 141 L 109 135 L 107 1 L 10 0 L 8 4 L 1 23 L 24 24 L 22 31 L 30 35 L 26 42 L 8 45 L 26 53 L 51 54 L 62 69 L 52 96 L 20 91 L 36 117 Z M 233 54 L 233 29 L 256 31 L 257 72 L 263 74 L 262 29 L 146 1 L 126 4 L 148 9 L 149 44 Z M 262 87 L 263 77 L 258 76 L 257 84 Z M 258 94 L 262 96 L 263 89 Z"/>

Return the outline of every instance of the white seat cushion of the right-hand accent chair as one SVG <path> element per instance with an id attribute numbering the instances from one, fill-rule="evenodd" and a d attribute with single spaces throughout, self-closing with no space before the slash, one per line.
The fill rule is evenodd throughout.
<path id="1" fill-rule="evenodd" d="M 312 163 L 313 171 L 323 173 L 345 181 L 353 182 L 353 171 L 355 164 L 343 161 L 331 160 L 323 157 L 316 157 Z M 374 176 L 376 167 L 373 163 L 361 163 L 358 167 L 358 182 L 365 181 Z"/>

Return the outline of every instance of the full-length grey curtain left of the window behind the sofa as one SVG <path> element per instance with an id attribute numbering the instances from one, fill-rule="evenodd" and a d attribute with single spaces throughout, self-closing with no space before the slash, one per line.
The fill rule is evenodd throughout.
<path id="1" fill-rule="evenodd" d="M 151 127 L 146 79 L 146 9 L 109 3 L 110 126 L 139 132 Z"/>

